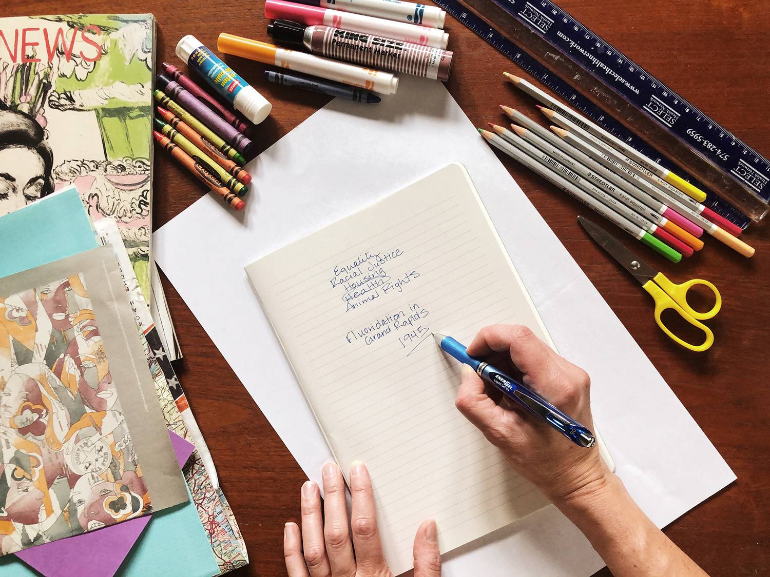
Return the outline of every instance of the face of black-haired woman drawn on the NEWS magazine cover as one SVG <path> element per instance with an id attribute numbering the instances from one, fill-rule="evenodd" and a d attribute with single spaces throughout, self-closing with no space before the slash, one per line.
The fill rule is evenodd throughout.
<path id="1" fill-rule="evenodd" d="M 35 202 L 44 186 L 45 164 L 34 148 L 0 148 L 0 215 Z"/>

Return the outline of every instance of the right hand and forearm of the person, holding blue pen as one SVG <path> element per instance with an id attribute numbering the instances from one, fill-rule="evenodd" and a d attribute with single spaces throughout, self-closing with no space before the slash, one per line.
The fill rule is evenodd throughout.
<path id="1" fill-rule="evenodd" d="M 588 374 L 531 330 L 488 326 L 467 353 L 501 370 L 513 369 L 511 375 L 523 373 L 524 385 L 594 430 Z M 583 532 L 614 575 L 705 575 L 639 509 L 598 447 L 569 442 L 520 405 L 506 398 L 496 402 L 499 392 L 487 389 L 476 372 L 463 365 L 457 409 Z"/>

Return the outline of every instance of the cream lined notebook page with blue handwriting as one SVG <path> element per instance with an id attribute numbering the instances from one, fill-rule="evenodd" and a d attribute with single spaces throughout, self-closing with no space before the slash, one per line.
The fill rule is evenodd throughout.
<path id="1" fill-rule="evenodd" d="M 457 411 L 460 365 L 432 337 L 517 323 L 552 345 L 462 165 L 246 272 L 337 462 L 370 470 L 394 574 L 424 519 L 447 552 L 547 504 Z"/>

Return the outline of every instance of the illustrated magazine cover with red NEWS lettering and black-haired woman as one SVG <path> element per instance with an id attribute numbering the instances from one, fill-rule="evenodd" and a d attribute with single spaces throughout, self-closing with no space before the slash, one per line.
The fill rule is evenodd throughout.
<path id="1" fill-rule="evenodd" d="M 0 18 L 0 215 L 75 184 L 149 302 L 155 18 Z"/>

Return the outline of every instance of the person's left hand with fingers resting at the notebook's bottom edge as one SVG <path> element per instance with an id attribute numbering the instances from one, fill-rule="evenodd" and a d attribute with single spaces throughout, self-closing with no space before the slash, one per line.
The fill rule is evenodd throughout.
<path id="1" fill-rule="evenodd" d="M 302 485 L 302 531 L 296 523 L 283 530 L 283 556 L 289 577 L 391 577 L 383 556 L 369 471 L 363 463 L 350 470 L 350 529 L 345 482 L 334 463 L 323 467 L 325 500 L 312 481 Z M 351 535 L 352 533 L 352 539 Z M 440 577 L 436 522 L 425 521 L 414 537 L 414 577 Z"/>

